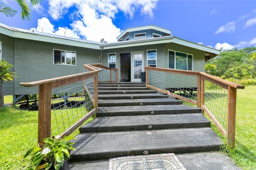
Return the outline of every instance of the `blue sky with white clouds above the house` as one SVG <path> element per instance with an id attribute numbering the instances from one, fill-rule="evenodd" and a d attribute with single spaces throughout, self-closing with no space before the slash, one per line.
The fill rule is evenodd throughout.
<path id="1" fill-rule="evenodd" d="M 8 26 L 99 42 L 114 42 L 126 28 L 156 25 L 172 35 L 220 49 L 256 46 L 255 0 L 42 0 L 23 21 L 0 14 Z"/>

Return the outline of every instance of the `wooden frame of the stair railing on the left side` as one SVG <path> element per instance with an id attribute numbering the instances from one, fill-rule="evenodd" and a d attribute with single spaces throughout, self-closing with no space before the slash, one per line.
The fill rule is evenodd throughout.
<path id="1" fill-rule="evenodd" d="M 60 137 L 72 133 L 98 111 L 98 72 L 102 71 L 102 69 L 89 64 L 84 65 L 84 67 L 88 70 L 87 72 L 35 82 L 20 83 L 20 86 L 24 87 L 38 86 L 38 143 L 43 143 L 44 138 L 51 136 L 52 89 L 60 88 L 76 82 L 85 82 L 88 79 L 94 78 L 94 89 L 92 89 L 94 90 L 94 96 L 90 96 L 89 94 L 90 98 L 93 98 L 94 100 L 94 108 L 90 109 L 90 111 L 84 117 L 75 122 L 74 125 L 71 125 L 64 132 L 61 132 Z M 82 86 L 86 86 L 86 84 L 82 84 Z M 84 89 L 84 91 L 85 90 L 86 89 Z"/>

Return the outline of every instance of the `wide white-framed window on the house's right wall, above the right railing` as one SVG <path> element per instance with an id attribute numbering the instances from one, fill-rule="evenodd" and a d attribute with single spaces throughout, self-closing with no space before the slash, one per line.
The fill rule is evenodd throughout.
<path id="1" fill-rule="evenodd" d="M 178 51 L 168 51 L 168 68 L 192 70 L 193 56 Z"/>

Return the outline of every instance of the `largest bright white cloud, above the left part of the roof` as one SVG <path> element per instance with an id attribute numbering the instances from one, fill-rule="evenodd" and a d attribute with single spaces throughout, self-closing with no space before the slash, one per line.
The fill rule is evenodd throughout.
<path id="1" fill-rule="evenodd" d="M 73 19 L 73 32 L 90 41 L 114 42 L 121 29 L 113 24 L 112 19 L 118 12 L 133 18 L 135 10 L 153 17 L 153 9 L 158 0 L 49 0 L 48 13 L 54 20 L 68 14 Z M 69 8 L 73 8 L 69 12 Z M 74 10 L 75 8 L 75 10 Z"/>

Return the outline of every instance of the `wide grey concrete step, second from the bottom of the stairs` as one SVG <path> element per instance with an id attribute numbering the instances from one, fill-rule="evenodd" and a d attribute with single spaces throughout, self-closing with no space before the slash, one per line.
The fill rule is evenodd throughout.
<path id="1" fill-rule="evenodd" d="M 210 127 L 202 113 L 96 117 L 80 127 L 80 133 Z"/>

